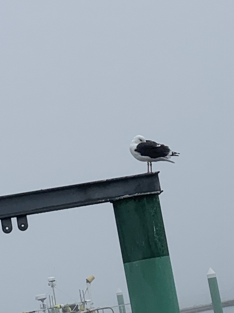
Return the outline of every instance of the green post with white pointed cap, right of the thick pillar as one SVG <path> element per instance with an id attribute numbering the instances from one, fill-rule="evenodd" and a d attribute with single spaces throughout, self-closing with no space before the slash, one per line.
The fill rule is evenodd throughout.
<path id="1" fill-rule="evenodd" d="M 223 313 L 217 277 L 216 277 L 216 273 L 212 270 L 212 268 L 209 268 L 208 270 L 207 279 L 208 279 L 208 284 L 210 288 L 210 295 L 211 295 L 214 313 Z"/>

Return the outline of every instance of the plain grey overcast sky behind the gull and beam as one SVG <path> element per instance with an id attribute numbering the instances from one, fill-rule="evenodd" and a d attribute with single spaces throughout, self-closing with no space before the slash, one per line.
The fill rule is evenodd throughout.
<path id="1" fill-rule="evenodd" d="M 233 1 L 2 1 L 0 194 L 146 172 L 135 135 L 181 153 L 159 162 L 180 306 L 234 295 Z M 47 277 L 78 300 L 128 301 L 110 203 L 32 215 L 0 231 L 1 299 L 35 310 Z M 58 302 L 72 300 L 59 291 Z"/>

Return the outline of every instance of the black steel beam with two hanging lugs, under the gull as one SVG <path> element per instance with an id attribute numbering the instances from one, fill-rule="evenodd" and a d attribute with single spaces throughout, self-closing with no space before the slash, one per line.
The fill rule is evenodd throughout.
<path id="1" fill-rule="evenodd" d="M 0 197 L 0 219 L 5 232 L 12 230 L 9 224 L 12 217 L 17 217 L 18 227 L 25 230 L 26 216 L 29 214 L 110 202 L 116 198 L 156 192 L 161 192 L 158 172 L 18 193 Z"/>

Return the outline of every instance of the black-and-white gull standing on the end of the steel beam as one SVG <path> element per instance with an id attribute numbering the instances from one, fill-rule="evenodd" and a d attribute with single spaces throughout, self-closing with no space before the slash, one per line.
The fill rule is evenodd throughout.
<path id="1" fill-rule="evenodd" d="M 143 136 L 137 135 L 133 138 L 130 144 L 130 152 L 139 161 L 147 162 L 147 173 L 152 173 L 152 162 L 167 161 L 175 163 L 170 160 L 171 156 L 178 156 L 178 152 L 173 152 L 168 146 L 161 145 L 152 140 L 146 140 Z"/>

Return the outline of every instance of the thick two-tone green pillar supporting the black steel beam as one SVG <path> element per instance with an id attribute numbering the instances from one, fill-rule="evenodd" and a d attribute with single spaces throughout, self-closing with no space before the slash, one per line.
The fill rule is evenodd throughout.
<path id="1" fill-rule="evenodd" d="M 179 313 L 157 194 L 113 202 L 132 313 Z"/>

